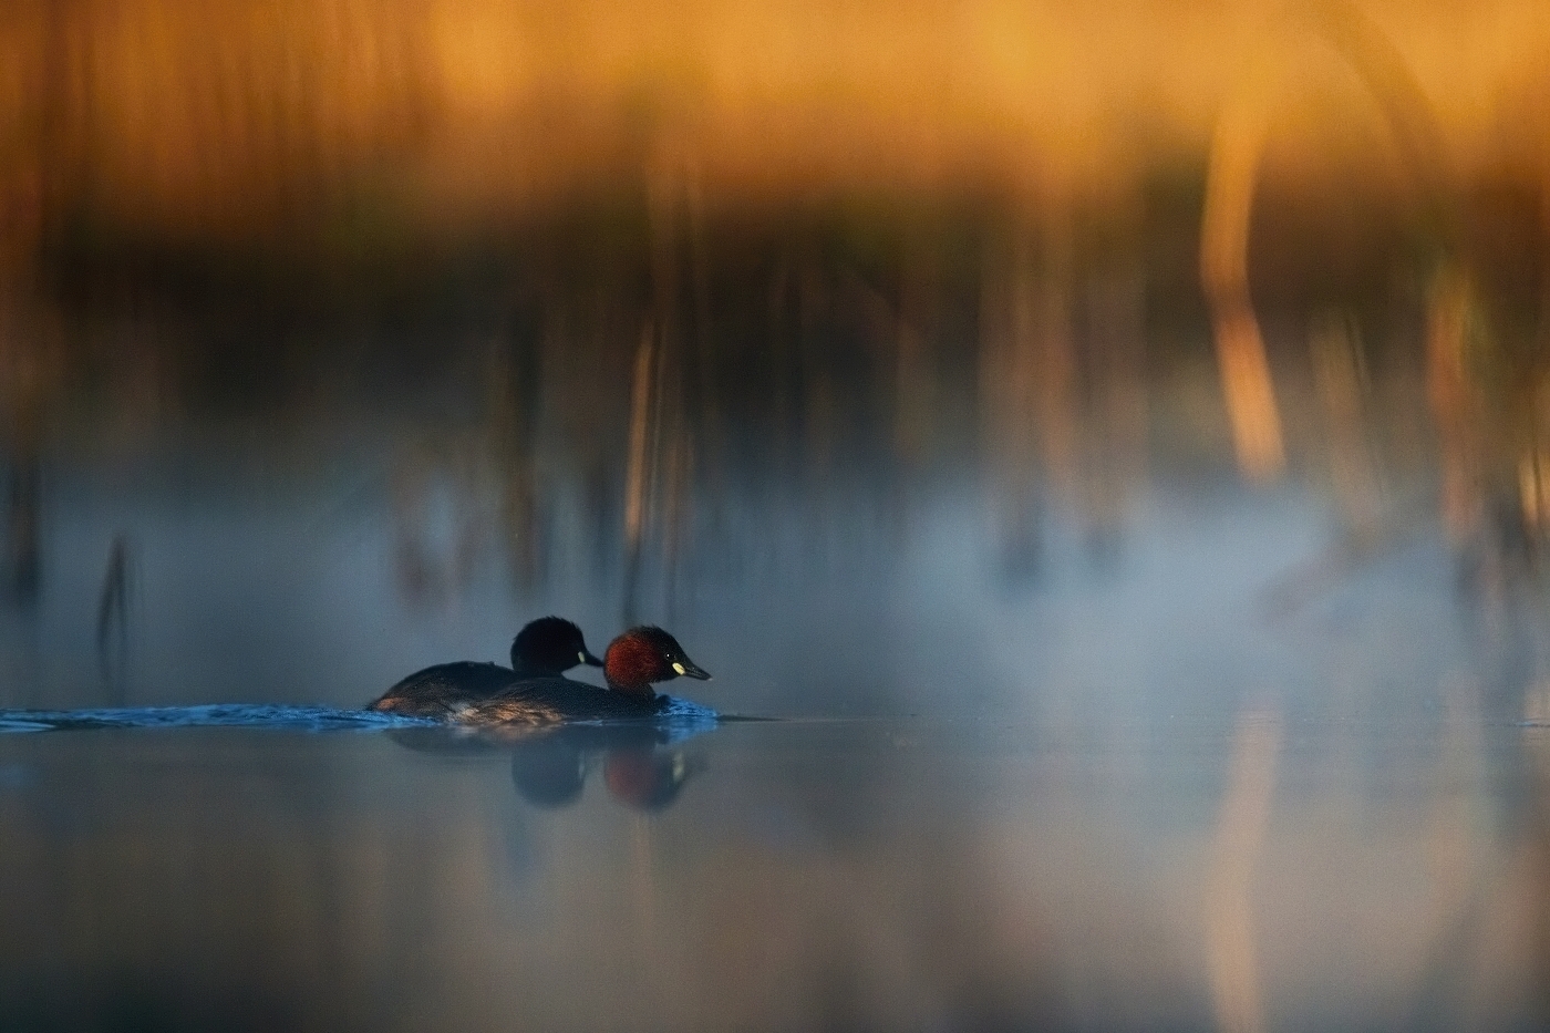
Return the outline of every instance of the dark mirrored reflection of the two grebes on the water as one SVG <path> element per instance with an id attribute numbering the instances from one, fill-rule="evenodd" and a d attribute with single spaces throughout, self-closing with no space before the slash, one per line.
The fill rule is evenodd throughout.
<path id="1" fill-rule="evenodd" d="M 448 757 L 512 755 L 512 785 L 529 805 L 574 807 L 587 777 L 601 768 L 609 797 L 636 811 L 660 811 L 677 800 L 690 777 L 705 771 L 684 743 L 711 723 L 563 724 L 558 727 L 405 727 L 389 732 L 400 746 Z"/>

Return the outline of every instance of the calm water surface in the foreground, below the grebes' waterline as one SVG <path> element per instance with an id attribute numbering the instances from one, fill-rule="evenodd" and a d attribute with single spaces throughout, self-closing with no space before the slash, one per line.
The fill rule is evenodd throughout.
<path id="1" fill-rule="evenodd" d="M 0 737 L 6 1030 L 1534 1030 L 1550 729 Z"/>

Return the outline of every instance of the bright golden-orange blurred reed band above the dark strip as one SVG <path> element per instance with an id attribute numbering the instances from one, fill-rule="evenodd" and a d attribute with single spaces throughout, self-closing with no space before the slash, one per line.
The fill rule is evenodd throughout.
<path id="1" fill-rule="evenodd" d="M 1197 161 L 1263 39 L 1291 39 L 1286 11 L 19 0 L 0 12 L 5 194 L 161 233 L 251 231 L 341 194 L 448 228 L 663 163 L 750 203 L 834 188 L 1100 195 Z M 1547 5 L 1364 12 L 1460 169 L 1542 168 Z M 1277 160 L 1293 171 L 1372 147 L 1375 99 L 1339 50 L 1316 34 L 1291 47 Z M 1370 163 L 1384 174 L 1393 157 Z"/>

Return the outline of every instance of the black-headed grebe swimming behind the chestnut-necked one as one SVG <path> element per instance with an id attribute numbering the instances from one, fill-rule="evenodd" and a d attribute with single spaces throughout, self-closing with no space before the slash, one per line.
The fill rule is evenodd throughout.
<path id="1" fill-rule="evenodd" d="M 510 667 L 471 661 L 426 667 L 384 692 L 369 709 L 412 717 L 446 717 L 459 707 L 490 698 L 508 689 L 515 681 L 527 678 L 552 678 L 587 692 L 601 693 L 592 686 L 561 678 L 577 664 L 601 667 L 603 661 L 586 648 L 581 628 L 564 617 L 539 617 L 518 631 L 512 641 Z"/>

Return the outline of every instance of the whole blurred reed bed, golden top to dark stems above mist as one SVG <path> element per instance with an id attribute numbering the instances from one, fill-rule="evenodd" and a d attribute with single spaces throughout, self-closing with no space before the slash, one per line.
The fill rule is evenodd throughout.
<path id="1" fill-rule="evenodd" d="M 1059 520 L 1107 555 L 1152 487 L 1288 478 L 1336 530 L 1285 605 L 1418 524 L 1516 591 L 1547 45 L 1516 0 L 8 5 L 6 583 L 48 464 L 181 456 L 386 484 L 432 608 L 549 599 L 581 527 L 659 617 L 792 499 L 877 571 L 944 484 L 1028 582 Z"/>

